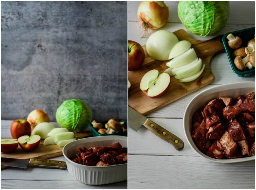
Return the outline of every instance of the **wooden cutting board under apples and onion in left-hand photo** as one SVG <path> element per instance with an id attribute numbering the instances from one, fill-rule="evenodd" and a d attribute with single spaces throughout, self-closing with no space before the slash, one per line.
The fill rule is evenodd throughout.
<path id="1" fill-rule="evenodd" d="M 84 132 L 84 133 L 75 133 L 74 136 L 76 139 L 92 137 L 92 132 Z M 63 147 L 59 147 L 58 145 L 43 145 L 43 140 L 40 141 L 40 144 L 36 149 L 32 151 L 23 150 L 20 145 L 18 148 L 11 153 L 3 153 L 1 152 L 1 157 L 5 158 L 19 158 L 19 159 L 30 159 L 30 158 L 42 158 L 49 159 L 54 158 L 56 156 L 62 156 Z M 1 169 L 9 168 L 8 166 L 1 165 Z"/>

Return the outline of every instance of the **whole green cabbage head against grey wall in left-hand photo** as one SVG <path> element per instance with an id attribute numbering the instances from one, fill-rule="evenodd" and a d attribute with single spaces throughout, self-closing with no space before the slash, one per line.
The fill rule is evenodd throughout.
<path id="1" fill-rule="evenodd" d="M 64 101 L 56 111 L 58 125 L 74 133 L 85 131 L 91 120 L 91 108 L 79 99 Z"/>

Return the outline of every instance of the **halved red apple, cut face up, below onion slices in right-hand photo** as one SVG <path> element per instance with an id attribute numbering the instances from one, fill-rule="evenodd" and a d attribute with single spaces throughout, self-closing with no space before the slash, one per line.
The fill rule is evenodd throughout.
<path id="1" fill-rule="evenodd" d="M 170 83 L 169 74 L 152 69 L 142 77 L 140 89 L 150 98 L 157 98 L 168 90 Z"/>

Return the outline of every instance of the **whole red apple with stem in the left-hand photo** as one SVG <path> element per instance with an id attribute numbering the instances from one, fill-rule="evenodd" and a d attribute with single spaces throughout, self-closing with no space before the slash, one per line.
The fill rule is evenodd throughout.
<path id="1" fill-rule="evenodd" d="M 24 119 L 14 120 L 11 123 L 10 130 L 13 139 L 18 139 L 23 135 L 31 135 L 31 125 Z"/>

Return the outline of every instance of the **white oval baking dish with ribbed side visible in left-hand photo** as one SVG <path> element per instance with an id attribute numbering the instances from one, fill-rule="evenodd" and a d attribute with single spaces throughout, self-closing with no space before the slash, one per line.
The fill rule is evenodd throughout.
<path id="1" fill-rule="evenodd" d="M 109 146 L 117 142 L 120 142 L 122 147 L 127 147 L 127 137 L 117 135 L 89 137 L 66 144 L 62 152 L 69 174 L 87 185 L 103 185 L 127 180 L 127 163 L 96 167 L 75 163 L 69 159 L 77 153 L 78 147 Z"/>

